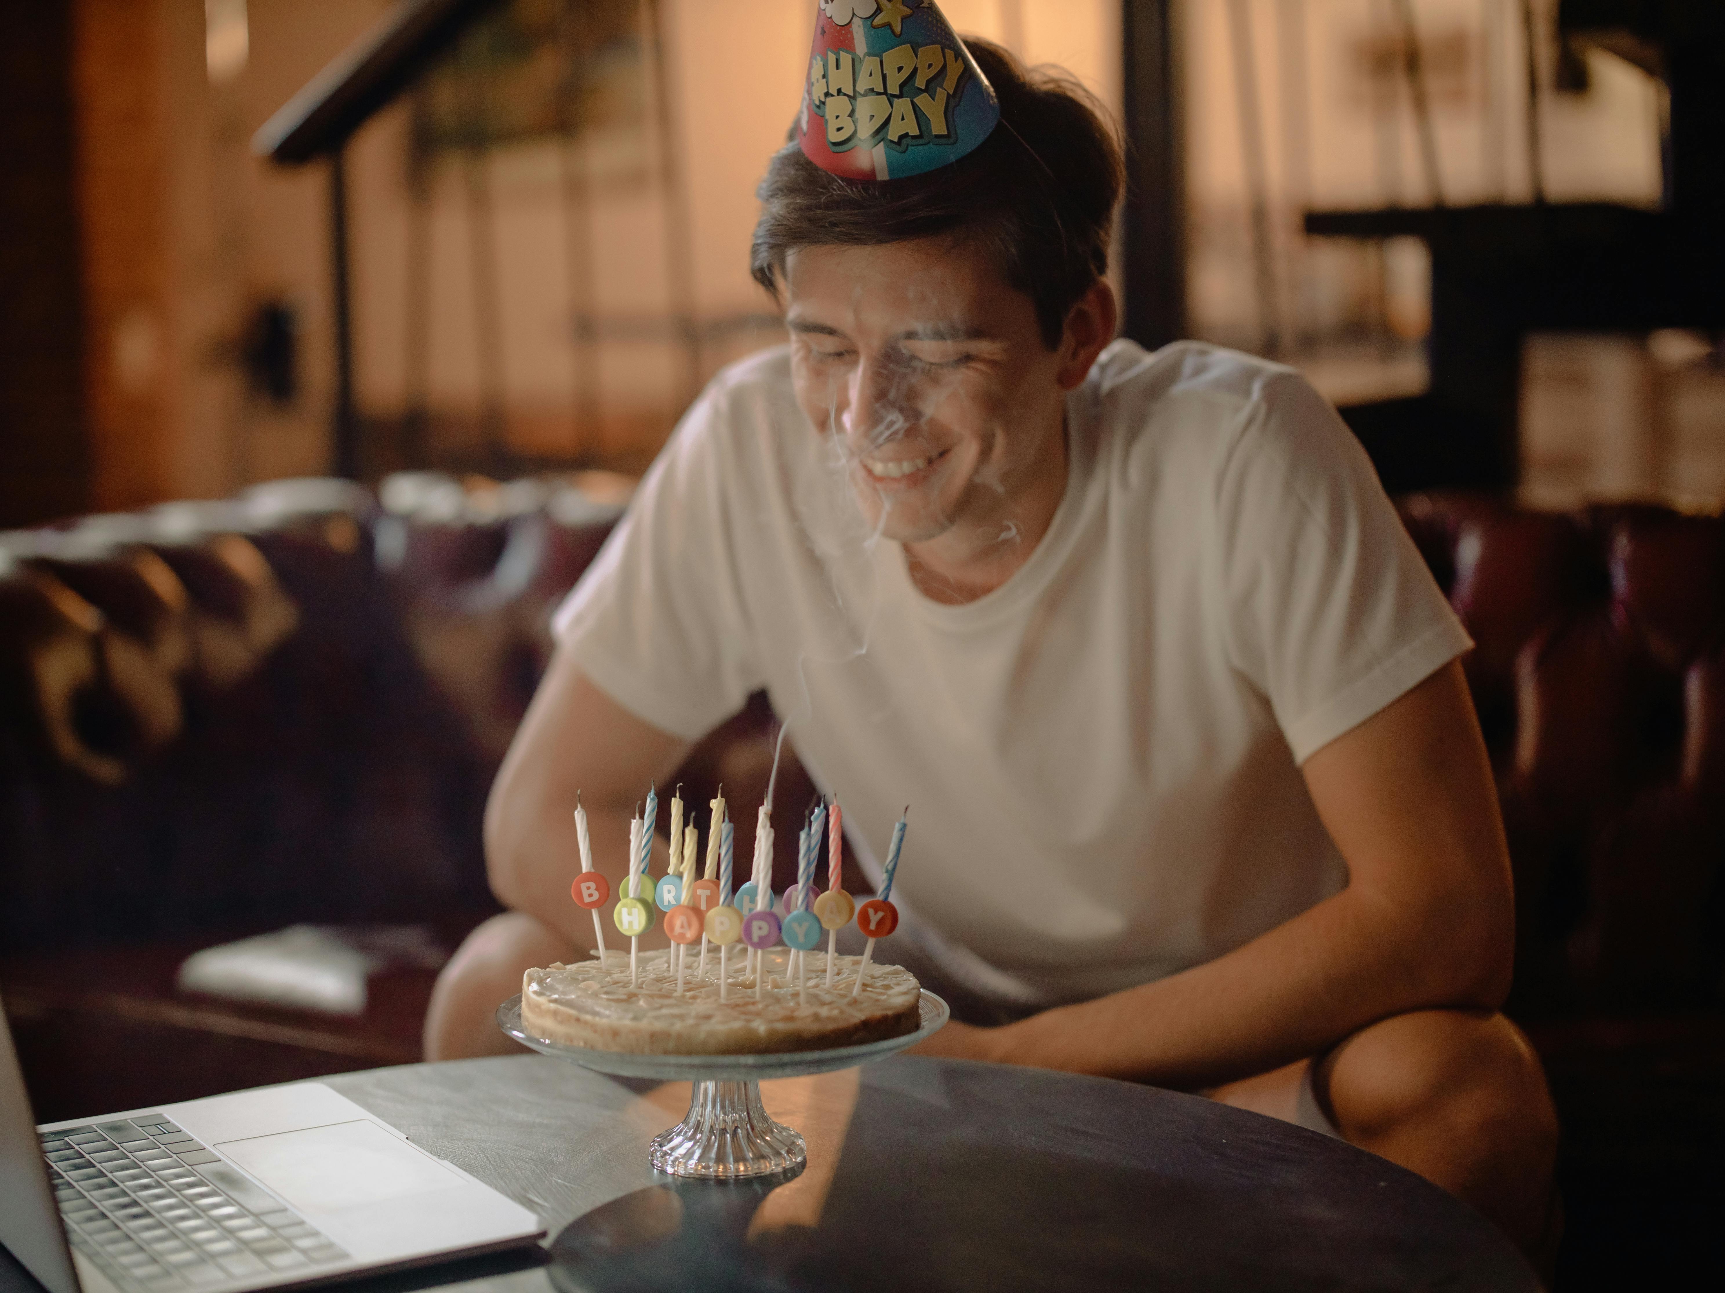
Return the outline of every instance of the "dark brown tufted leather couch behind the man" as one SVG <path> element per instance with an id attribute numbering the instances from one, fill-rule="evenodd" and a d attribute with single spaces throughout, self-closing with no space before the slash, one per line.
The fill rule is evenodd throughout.
<path id="1" fill-rule="evenodd" d="M 423 967 L 328 1021 L 178 996 L 172 965 L 290 921 L 423 922 L 452 945 L 495 910 L 485 791 L 626 488 L 412 476 L 380 505 L 281 483 L 86 522 L 95 538 L 0 536 L 0 990 L 45 1117 L 414 1055 Z M 1720 1202 L 1696 1183 L 1725 1150 L 1725 521 L 1401 507 L 1478 643 L 1511 1012 L 1565 1119 L 1571 1234 L 1659 1234 Z M 757 696 L 678 779 L 749 803 L 769 764 Z M 792 762 L 780 805 L 811 795 Z M 783 884 L 794 833 L 778 843 Z M 109 1038 L 124 1074 L 95 1062 Z"/>

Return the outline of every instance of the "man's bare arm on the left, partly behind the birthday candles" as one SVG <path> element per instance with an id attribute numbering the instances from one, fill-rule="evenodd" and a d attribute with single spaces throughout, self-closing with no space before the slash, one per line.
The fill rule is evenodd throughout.
<path id="1" fill-rule="evenodd" d="M 581 867 L 576 791 L 586 809 L 593 869 L 605 872 L 616 895 L 628 871 L 630 817 L 650 781 L 661 784 L 661 803 L 669 800 L 664 779 L 688 750 L 687 741 L 618 705 L 559 650 L 485 805 L 485 864 L 497 900 L 592 948 L 593 921 L 569 896 Z M 664 845 L 656 853 L 662 865 Z"/>

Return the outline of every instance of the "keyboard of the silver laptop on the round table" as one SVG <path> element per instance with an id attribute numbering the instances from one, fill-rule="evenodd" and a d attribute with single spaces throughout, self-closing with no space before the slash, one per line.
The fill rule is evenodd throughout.
<path id="1" fill-rule="evenodd" d="M 310 1276 L 347 1252 L 164 1117 L 43 1131 L 66 1238 L 126 1290 Z"/>

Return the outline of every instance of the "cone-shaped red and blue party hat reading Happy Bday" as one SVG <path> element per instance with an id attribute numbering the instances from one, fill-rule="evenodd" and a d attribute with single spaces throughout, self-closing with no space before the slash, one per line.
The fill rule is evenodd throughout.
<path id="1" fill-rule="evenodd" d="M 792 129 L 823 171 L 919 176 L 971 152 L 999 121 L 994 86 L 935 0 L 816 0 Z"/>

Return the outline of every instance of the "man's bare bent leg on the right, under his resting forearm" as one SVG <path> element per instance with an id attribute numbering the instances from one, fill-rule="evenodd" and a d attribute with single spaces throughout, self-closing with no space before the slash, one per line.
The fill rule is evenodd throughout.
<path id="1" fill-rule="evenodd" d="M 1556 1245 L 1558 1115 L 1539 1057 L 1504 1015 L 1416 1010 L 1327 1055 L 1230 1083 L 1211 1098 L 1304 1122 L 1301 1088 L 1342 1136 L 1497 1222 L 1535 1265 Z"/>

